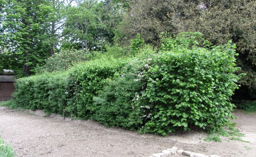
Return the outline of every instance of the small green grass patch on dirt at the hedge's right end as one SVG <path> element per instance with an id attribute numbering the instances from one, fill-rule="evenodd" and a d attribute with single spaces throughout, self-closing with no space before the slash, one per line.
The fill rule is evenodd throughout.
<path id="1" fill-rule="evenodd" d="M 219 129 L 217 132 L 209 134 L 204 140 L 207 142 L 215 141 L 215 142 L 221 142 L 221 136 L 222 137 L 230 137 L 230 140 L 239 140 L 241 142 L 248 142 L 241 139 L 241 137 L 244 137 L 244 134 L 239 132 L 238 129 L 235 128 L 237 124 L 236 123 L 228 123 L 227 126 Z"/>

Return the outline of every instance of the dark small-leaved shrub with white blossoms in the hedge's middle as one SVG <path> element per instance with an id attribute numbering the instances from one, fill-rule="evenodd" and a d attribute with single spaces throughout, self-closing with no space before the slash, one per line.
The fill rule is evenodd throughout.
<path id="1" fill-rule="evenodd" d="M 145 48 L 136 57 L 130 59 L 120 73 L 108 79 L 107 84 L 94 97 L 96 112 L 93 120 L 106 126 L 122 126 L 125 129 L 138 129 L 143 126 L 149 112 L 147 107 L 141 106 L 141 91 L 145 88 L 145 71 L 148 70 L 155 52 Z"/>

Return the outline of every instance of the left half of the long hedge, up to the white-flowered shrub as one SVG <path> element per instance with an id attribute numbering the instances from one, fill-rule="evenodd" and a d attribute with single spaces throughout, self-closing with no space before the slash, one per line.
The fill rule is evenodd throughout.
<path id="1" fill-rule="evenodd" d="M 102 58 L 77 64 L 65 72 L 17 79 L 13 106 L 59 114 L 66 109 L 77 117 L 89 118 L 94 112 L 93 96 L 124 63 L 125 60 Z"/>

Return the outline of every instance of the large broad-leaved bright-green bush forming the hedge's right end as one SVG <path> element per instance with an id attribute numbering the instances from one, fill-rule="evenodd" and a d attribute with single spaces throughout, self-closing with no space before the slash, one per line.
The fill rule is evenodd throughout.
<path id="1" fill-rule="evenodd" d="M 148 70 L 143 96 L 154 111 L 143 131 L 166 135 L 193 126 L 214 131 L 233 116 L 230 96 L 241 77 L 234 74 L 236 46 L 231 42 L 211 49 L 166 45 L 177 43 L 176 39 L 180 41 L 179 37 L 164 39 L 162 47 L 170 50 L 161 51 Z"/>

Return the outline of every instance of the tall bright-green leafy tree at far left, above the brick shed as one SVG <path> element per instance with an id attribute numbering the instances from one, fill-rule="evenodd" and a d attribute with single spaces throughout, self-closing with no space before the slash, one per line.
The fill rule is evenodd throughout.
<path id="1" fill-rule="evenodd" d="M 10 68 L 16 66 L 31 74 L 49 52 L 49 13 L 53 11 L 48 0 L 6 0 L 1 8 L 0 46 L 2 55 L 10 56 Z M 17 62 L 17 64 L 12 64 Z"/>

